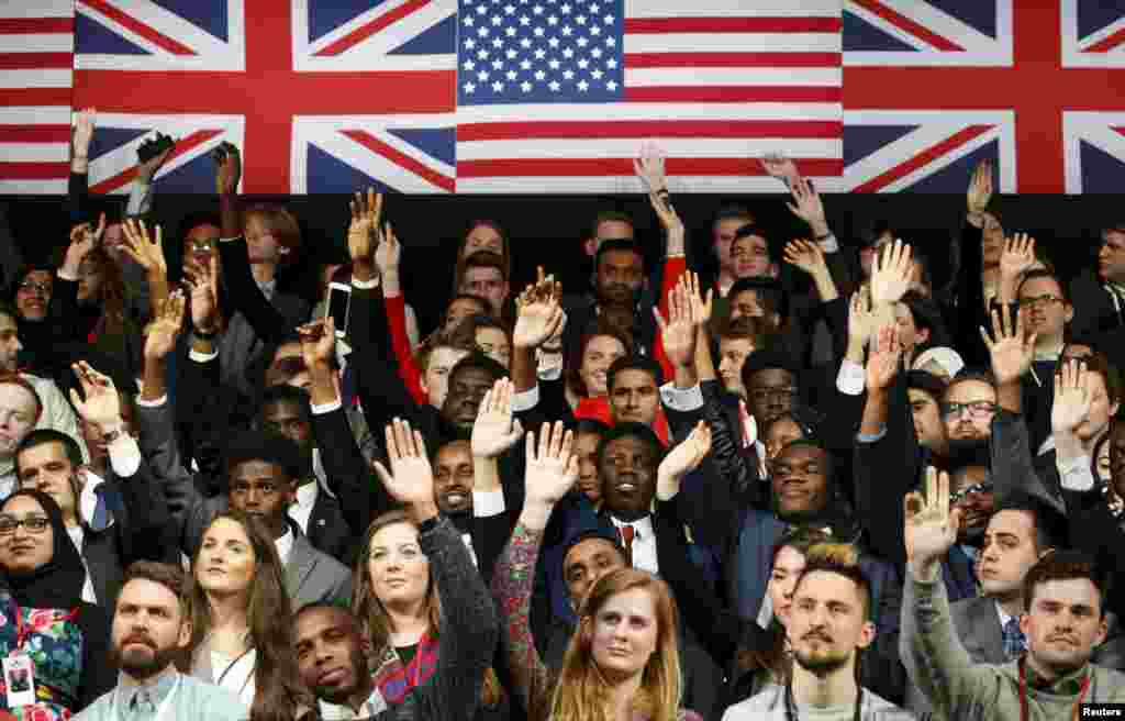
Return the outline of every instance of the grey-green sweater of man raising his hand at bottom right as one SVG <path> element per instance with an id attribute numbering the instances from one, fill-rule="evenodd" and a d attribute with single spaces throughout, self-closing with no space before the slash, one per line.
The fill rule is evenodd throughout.
<path id="1" fill-rule="evenodd" d="M 947 719 L 1010 721 L 1019 718 L 1018 661 L 973 664 L 950 619 L 945 584 L 915 580 L 907 569 L 902 598 L 903 649 L 915 685 Z M 1090 674 L 1083 703 L 1125 703 L 1125 674 L 1087 664 L 1056 681 L 1048 690 L 1027 690 L 1029 721 L 1069 719 L 1078 692 Z"/>

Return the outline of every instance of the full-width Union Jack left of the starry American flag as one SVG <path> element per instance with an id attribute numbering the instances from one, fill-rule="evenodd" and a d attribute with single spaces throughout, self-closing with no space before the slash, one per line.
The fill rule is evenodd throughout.
<path id="1" fill-rule="evenodd" d="M 151 130 L 161 187 L 206 192 L 242 148 L 248 193 L 454 189 L 456 0 L 78 0 L 75 107 L 98 108 L 96 192 Z M 107 129 L 108 128 L 108 129 Z"/>

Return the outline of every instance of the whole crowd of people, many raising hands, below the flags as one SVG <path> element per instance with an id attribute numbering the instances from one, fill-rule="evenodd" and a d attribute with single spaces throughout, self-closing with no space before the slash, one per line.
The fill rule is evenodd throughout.
<path id="1" fill-rule="evenodd" d="M 808 232 L 723 207 L 704 280 L 646 147 L 655 267 L 605 211 L 592 287 L 520 291 L 519 247 L 477 222 L 423 334 L 381 196 L 356 193 L 350 262 L 304 298 L 279 282 L 300 225 L 243 207 L 236 147 L 173 237 L 166 152 L 93 217 L 94 124 L 58 260 L 3 269 L 0 718 L 1125 703 L 1125 224 L 1061 278 L 1006 233 L 986 162 L 937 286 L 908 233 L 842 243 L 777 155 Z"/>

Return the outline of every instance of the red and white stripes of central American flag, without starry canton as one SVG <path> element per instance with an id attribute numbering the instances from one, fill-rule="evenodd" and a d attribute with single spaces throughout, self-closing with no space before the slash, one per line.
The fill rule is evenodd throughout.
<path id="1" fill-rule="evenodd" d="M 626 0 L 616 102 L 458 108 L 459 192 L 637 192 L 655 141 L 672 190 L 775 191 L 752 159 L 843 171 L 838 0 Z"/>

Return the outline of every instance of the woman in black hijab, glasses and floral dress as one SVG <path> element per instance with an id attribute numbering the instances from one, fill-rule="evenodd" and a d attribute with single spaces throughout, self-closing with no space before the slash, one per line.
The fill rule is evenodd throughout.
<path id="1" fill-rule="evenodd" d="M 58 505 L 38 490 L 9 496 L 0 505 L 0 658 L 11 673 L 2 679 L 0 715 L 66 719 L 114 687 L 109 619 L 81 600 L 84 580 Z M 25 659 L 34 697 L 17 693 Z"/>

